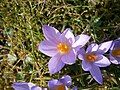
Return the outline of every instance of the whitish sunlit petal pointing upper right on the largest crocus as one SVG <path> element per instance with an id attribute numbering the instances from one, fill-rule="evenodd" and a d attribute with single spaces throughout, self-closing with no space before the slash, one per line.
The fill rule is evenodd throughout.
<path id="1" fill-rule="evenodd" d="M 75 43 L 72 45 L 73 47 L 83 47 L 90 39 L 90 36 L 81 34 L 76 37 Z"/>

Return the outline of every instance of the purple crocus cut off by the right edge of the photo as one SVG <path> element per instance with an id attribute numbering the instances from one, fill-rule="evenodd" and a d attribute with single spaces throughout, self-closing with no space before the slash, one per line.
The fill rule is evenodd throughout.
<path id="1" fill-rule="evenodd" d="M 114 64 L 120 64 L 120 38 L 113 41 L 110 48 L 110 61 Z"/>

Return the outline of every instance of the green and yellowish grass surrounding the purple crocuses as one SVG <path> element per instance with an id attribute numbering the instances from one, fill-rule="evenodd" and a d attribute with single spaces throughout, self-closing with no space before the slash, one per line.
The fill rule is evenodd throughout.
<path id="1" fill-rule="evenodd" d="M 120 90 L 120 65 L 101 68 L 103 85 L 82 70 L 80 60 L 50 75 L 50 57 L 37 49 L 44 24 L 88 34 L 89 43 L 114 40 L 120 37 L 120 0 L 0 0 L 0 90 L 12 90 L 20 81 L 47 87 L 65 74 L 79 90 Z"/>

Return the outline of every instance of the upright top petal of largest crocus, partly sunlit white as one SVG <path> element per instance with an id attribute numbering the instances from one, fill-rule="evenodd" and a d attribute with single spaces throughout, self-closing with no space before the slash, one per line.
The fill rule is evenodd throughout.
<path id="1" fill-rule="evenodd" d="M 64 38 L 66 38 L 71 44 L 75 42 L 75 37 L 74 34 L 72 33 L 70 28 L 67 28 L 62 34 L 61 34 L 61 39 L 64 41 Z"/>

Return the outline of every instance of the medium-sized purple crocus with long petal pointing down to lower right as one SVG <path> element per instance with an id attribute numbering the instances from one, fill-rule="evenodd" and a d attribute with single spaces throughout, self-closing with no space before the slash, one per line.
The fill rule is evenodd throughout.
<path id="1" fill-rule="evenodd" d="M 102 84 L 102 74 L 99 67 L 110 65 L 110 61 L 103 54 L 111 47 L 112 41 L 104 42 L 100 45 L 93 43 L 85 50 L 82 48 L 78 51 L 78 58 L 82 60 L 82 68 L 89 71 L 93 78 Z"/>

